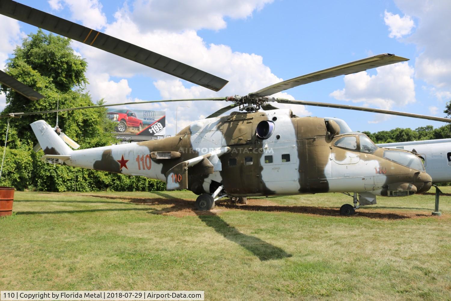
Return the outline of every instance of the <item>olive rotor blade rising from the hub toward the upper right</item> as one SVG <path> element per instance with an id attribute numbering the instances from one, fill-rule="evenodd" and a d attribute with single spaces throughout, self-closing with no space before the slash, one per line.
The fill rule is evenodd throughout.
<path id="1" fill-rule="evenodd" d="M 403 62 L 409 59 L 395 56 L 394 54 L 383 53 L 377 56 L 370 56 L 366 59 L 356 60 L 343 65 L 338 65 L 332 68 L 327 68 L 321 71 L 301 75 L 293 79 L 287 79 L 280 83 L 275 83 L 266 88 L 262 88 L 257 92 L 249 93 L 250 97 L 263 97 L 272 95 L 277 92 L 284 91 L 293 87 L 297 87 L 306 83 L 313 83 L 322 79 L 329 79 L 339 75 L 346 75 L 365 71 L 366 69 L 376 68 L 380 66 L 390 65 L 398 62 Z"/>

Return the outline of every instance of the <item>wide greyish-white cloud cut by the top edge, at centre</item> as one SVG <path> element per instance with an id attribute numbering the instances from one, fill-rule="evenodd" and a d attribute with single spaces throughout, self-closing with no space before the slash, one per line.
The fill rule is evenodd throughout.
<path id="1" fill-rule="evenodd" d="M 131 19 L 142 32 L 226 28 L 224 18 L 244 19 L 273 0 L 136 0 Z M 124 10 L 128 10 L 127 7 Z"/>

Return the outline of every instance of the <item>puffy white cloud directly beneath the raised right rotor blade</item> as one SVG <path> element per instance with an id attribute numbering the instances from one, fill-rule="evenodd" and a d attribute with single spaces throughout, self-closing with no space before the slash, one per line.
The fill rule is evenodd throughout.
<path id="1" fill-rule="evenodd" d="M 378 67 L 376 71 L 376 75 L 366 71 L 345 75 L 345 88 L 330 96 L 386 110 L 415 102 L 414 69 L 408 63 Z"/>

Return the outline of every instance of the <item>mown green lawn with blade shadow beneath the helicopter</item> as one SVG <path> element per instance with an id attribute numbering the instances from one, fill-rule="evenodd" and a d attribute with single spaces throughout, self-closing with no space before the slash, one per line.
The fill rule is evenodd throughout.
<path id="1" fill-rule="evenodd" d="M 432 189 L 431 192 L 434 190 Z M 443 187 L 451 193 L 451 188 Z M 16 192 L 1 290 L 203 290 L 205 300 L 450 300 L 451 196 L 222 202 L 191 192 Z"/>

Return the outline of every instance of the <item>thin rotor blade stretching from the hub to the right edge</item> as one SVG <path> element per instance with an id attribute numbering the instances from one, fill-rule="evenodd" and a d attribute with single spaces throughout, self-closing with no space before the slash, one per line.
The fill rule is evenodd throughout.
<path id="1" fill-rule="evenodd" d="M 398 112 L 398 111 L 389 111 L 389 110 L 382 110 L 382 109 L 372 109 L 372 108 L 366 108 L 366 107 L 336 105 L 336 104 L 324 103 L 324 102 L 306 102 L 304 100 L 289 100 L 289 99 L 284 99 L 284 98 L 276 98 L 276 102 L 289 103 L 289 104 L 293 104 L 293 105 L 305 105 L 305 106 L 315 106 L 315 107 L 329 107 L 329 108 L 337 108 L 337 109 L 357 110 L 357 111 L 421 118 L 421 119 L 428 119 L 428 120 L 434 120 L 434 121 L 451 122 L 450 118 L 420 115 L 420 114 L 414 114 L 414 113 L 405 113 L 405 112 Z"/>

